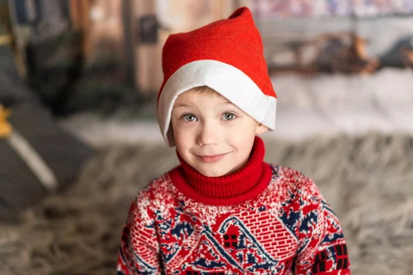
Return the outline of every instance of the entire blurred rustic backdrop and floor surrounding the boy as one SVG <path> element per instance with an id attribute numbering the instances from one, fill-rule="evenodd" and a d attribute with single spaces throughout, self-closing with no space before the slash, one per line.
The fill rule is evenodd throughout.
<path id="1" fill-rule="evenodd" d="M 278 96 L 266 160 L 309 175 L 354 274 L 413 274 L 413 0 L 0 0 L 0 274 L 114 274 L 169 34 L 248 6 Z M 30 271 L 29 271 L 30 270 Z"/>

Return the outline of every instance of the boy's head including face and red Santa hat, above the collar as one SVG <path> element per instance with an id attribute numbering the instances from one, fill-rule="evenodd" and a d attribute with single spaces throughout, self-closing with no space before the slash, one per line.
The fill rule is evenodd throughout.
<path id="1" fill-rule="evenodd" d="M 169 36 L 162 69 L 164 82 L 157 105 L 160 130 L 167 144 L 176 145 L 181 157 L 200 173 L 220 176 L 235 170 L 238 158 L 248 159 L 255 134 L 275 128 L 277 96 L 248 8 L 198 30 Z M 195 117 L 196 123 L 188 121 Z M 239 154 L 228 167 L 210 169 L 213 163 L 221 166 L 223 162 L 211 162 L 216 157 L 201 158 L 203 167 L 209 167 L 207 173 L 191 162 L 197 154 L 231 150 Z M 224 159 L 229 160 L 229 155 Z"/>

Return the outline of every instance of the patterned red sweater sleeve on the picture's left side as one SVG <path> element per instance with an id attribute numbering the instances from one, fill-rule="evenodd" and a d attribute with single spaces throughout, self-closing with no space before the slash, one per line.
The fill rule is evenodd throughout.
<path id="1" fill-rule="evenodd" d="M 136 198 L 129 208 L 118 252 L 117 275 L 161 274 L 155 221 Z"/>

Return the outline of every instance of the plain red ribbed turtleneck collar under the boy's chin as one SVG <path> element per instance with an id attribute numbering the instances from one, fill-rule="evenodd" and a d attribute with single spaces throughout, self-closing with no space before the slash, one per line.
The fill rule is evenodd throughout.
<path id="1" fill-rule="evenodd" d="M 207 177 L 180 157 L 181 165 L 171 171 L 173 184 L 188 197 L 215 205 L 239 203 L 256 197 L 271 179 L 271 168 L 263 162 L 264 142 L 255 137 L 248 162 L 229 175 Z"/>

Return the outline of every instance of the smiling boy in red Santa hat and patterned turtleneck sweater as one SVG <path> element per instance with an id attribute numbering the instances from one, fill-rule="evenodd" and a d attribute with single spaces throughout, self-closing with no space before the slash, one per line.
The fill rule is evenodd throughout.
<path id="1" fill-rule="evenodd" d="M 263 162 L 277 100 L 250 10 L 169 36 L 162 67 L 158 122 L 181 165 L 131 204 L 118 274 L 350 274 L 313 181 Z"/>

